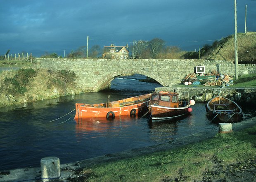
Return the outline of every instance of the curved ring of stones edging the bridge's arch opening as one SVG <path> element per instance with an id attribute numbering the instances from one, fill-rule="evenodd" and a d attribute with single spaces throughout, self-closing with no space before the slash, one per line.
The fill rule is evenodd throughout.
<path id="1" fill-rule="evenodd" d="M 114 78 L 122 76 L 122 75 L 127 75 L 127 74 L 141 74 L 144 76 L 147 76 L 149 78 L 154 79 L 155 81 L 159 82 L 157 79 L 154 78 L 154 76 L 152 77 L 149 73 L 147 73 L 146 71 L 133 71 L 133 70 L 126 70 L 126 71 L 119 71 L 119 72 L 115 72 L 113 74 L 109 74 L 107 76 L 104 76 L 102 79 L 100 79 L 98 81 L 98 83 L 95 85 L 95 87 L 97 87 L 97 89 L 95 88 L 95 90 L 102 90 L 104 88 L 109 87 L 110 83 L 112 80 L 114 80 Z M 159 82 L 160 83 L 160 82 Z M 161 83 L 160 83 L 161 84 Z"/>

